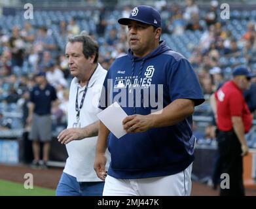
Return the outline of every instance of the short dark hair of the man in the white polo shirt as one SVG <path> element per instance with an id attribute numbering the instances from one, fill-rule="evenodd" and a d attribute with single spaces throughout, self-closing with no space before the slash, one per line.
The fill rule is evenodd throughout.
<path id="1" fill-rule="evenodd" d="M 84 54 L 84 57 L 88 59 L 88 57 L 95 55 L 94 63 L 98 63 L 99 45 L 92 37 L 88 35 L 73 35 L 69 37 L 68 41 L 71 43 L 82 42 L 82 54 Z"/>

